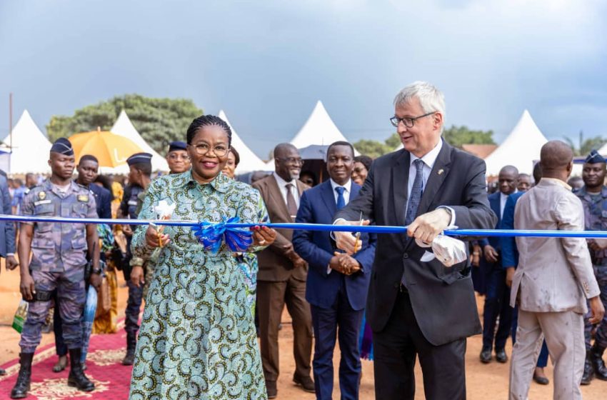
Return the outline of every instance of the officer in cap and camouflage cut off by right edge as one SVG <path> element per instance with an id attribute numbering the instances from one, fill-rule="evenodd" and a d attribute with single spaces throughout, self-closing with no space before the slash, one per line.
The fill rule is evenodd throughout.
<path id="1" fill-rule="evenodd" d="M 607 231 L 607 186 L 605 159 L 598 151 L 593 150 L 586 157 L 583 165 L 582 179 L 584 186 L 576 194 L 582 201 L 584 209 L 584 225 L 587 231 Z M 602 241 L 588 239 L 592 264 L 596 281 L 601 288 L 601 301 L 607 307 L 607 244 Z M 607 381 L 607 368 L 603 361 L 603 353 L 607 347 L 607 316 L 603 316 L 596 326 L 594 344 L 591 346 L 592 324 L 588 321 L 590 314 L 584 319 L 584 336 L 586 336 L 586 363 L 582 384 L 590 384 L 593 376 Z"/>

